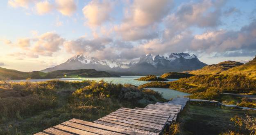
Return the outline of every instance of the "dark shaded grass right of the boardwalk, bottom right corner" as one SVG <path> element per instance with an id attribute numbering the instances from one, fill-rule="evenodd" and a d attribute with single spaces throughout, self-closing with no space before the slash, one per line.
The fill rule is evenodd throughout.
<path id="1" fill-rule="evenodd" d="M 255 111 L 231 110 L 214 106 L 187 104 L 187 107 L 178 119 L 179 133 L 177 135 L 229 135 L 228 133 L 248 135 L 250 133 L 248 130 L 237 128 L 230 121 L 236 115 L 245 117 L 247 113 L 256 116 Z"/>

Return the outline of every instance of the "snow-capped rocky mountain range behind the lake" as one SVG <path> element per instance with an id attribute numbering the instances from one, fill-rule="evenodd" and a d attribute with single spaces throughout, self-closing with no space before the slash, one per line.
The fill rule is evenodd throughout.
<path id="1" fill-rule="evenodd" d="M 109 72 L 133 72 L 136 74 L 163 74 L 165 72 L 182 72 L 197 70 L 204 67 L 205 63 L 199 61 L 197 56 L 188 53 L 172 53 L 168 57 L 152 54 L 141 56 L 138 62 L 122 63 L 114 60 L 99 60 L 95 57 L 82 54 L 69 58 L 65 63 L 46 68 L 42 72 L 55 70 L 95 69 Z"/>

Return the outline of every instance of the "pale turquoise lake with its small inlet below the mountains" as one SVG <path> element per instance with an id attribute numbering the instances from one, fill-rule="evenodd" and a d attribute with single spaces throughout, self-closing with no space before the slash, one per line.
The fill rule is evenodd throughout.
<path id="1" fill-rule="evenodd" d="M 142 76 L 120 76 L 120 77 L 98 77 L 98 78 L 60 78 L 61 81 L 83 81 L 83 80 L 95 80 L 100 81 L 104 80 L 106 82 L 112 82 L 116 84 L 126 84 L 130 83 L 132 85 L 142 85 L 145 83 L 148 83 L 148 81 L 138 81 L 135 79 L 138 79 Z M 48 81 L 53 79 L 30 79 L 30 82 L 40 82 L 40 81 Z M 168 81 L 176 81 L 177 79 L 168 79 Z M 12 80 L 13 82 L 21 82 L 21 81 L 27 81 L 27 80 Z M 154 91 L 157 91 L 159 93 L 163 93 L 163 98 L 170 99 L 177 96 L 184 97 L 189 95 L 188 93 L 180 92 L 177 90 L 171 90 L 168 88 L 150 88 Z"/>

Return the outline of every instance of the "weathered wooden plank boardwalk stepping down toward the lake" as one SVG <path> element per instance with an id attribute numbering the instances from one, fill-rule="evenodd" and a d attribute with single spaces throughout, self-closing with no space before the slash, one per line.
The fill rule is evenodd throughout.
<path id="1" fill-rule="evenodd" d="M 120 108 L 93 122 L 70 119 L 35 135 L 159 135 L 186 105 L 188 98 L 174 98 L 145 108 Z"/>

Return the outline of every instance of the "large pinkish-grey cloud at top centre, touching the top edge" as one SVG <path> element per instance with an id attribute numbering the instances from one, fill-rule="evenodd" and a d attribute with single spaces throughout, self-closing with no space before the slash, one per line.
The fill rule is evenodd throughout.
<path id="1" fill-rule="evenodd" d="M 125 41 L 156 38 L 159 36 L 157 23 L 172 7 L 172 0 L 134 0 L 125 10 L 125 19 L 114 27 L 114 31 Z"/>

